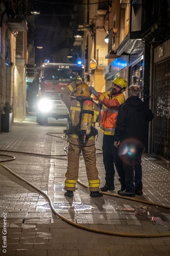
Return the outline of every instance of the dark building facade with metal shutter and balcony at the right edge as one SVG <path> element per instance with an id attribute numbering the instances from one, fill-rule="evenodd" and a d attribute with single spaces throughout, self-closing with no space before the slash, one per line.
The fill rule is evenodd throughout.
<path id="1" fill-rule="evenodd" d="M 150 49 L 149 151 L 170 159 L 170 1 L 142 0 L 142 39 Z"/>

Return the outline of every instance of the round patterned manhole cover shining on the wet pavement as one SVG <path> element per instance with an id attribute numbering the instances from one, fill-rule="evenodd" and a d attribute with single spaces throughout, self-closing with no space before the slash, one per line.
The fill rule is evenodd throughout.
<path id="1" fill-rule="evenodd" d="M 83 211 L 94 208 L 87 204 L 79 204 L 79 203 L 53 203 L 55 210 L 74 210 L 74 211 Z M 50 204 L 43 204 L 41 207 L 49 209 Z"/>

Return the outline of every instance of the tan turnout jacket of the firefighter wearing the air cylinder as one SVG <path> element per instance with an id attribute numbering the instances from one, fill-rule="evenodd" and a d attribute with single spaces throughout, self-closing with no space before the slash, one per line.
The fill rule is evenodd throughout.
<path id="1" fill-rule="evenodd" d="M 62 93 L 60 93 L 60 98 L 65 103 L 65 105 L 66 105 L 66 107 L 68 109 L 68 112 L 69 112 L 70 118 L 71 118 L 71 123 L 72 123 L 73 126 L 76 126 L 76 125 L 79 124 L 80 111 L 81 111 L 80 102 L 76 98 L 70 97 L 70 94 L 75 89 L 76 89 L 76 83 L 72 82 L 66 88 L 64 88 Z M 82 97 L 82 98 L 86 99 L 87 97 Z M 94 111 L 94 115 L 92 116 L 92 126 L 94 127 L 95 123 L 97 121 L 101 120 L 100 110 L 99 110 L 98 106 L 96 105 L 96 103 L 94 103 L 94 102 L 93 102 L 93 111 Z M 77 145 L 82 145 L 79 142 L 78 135 L 76 135 L 76 134 L 69 134 L 67 136 L 67 139 L 72 144 L 76 143 Z M 90 146 L 92 144 L 95 144 L 95 136 L 91 136 L 88 139 L 88 142 L 87 142 L 86 146 Z M 84 146 L 84 144 L 83 144 L 83 146 Z"/>

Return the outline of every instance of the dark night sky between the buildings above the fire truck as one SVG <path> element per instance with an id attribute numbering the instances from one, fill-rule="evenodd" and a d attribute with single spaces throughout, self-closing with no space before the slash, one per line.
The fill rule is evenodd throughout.
<path id="1" fill-rule="evenodd" d="M 50 4 L 54 2 L 55 4 Z M 59 4 L 61 2 L 62 0 L 37 1 L 40 7 L 40 15 L 35 15 L 34 21 L 35 63 L 37 65 L 41 64 L 44 59 L 50 59 L 53 50 L 52 35 L 54 35 L 55 30 L 59 30 L 59 27 L 56 26 L 58 21 L 63 29 L 69 29 L 70 14 L 74 4 Z M 74 1 L 64 0 L 63 3 L 74 3 Z M 59 41 L 57 43 L 59 44 Z M 37 49 L 37 46 L 43 46 L 43 49 Z"/>

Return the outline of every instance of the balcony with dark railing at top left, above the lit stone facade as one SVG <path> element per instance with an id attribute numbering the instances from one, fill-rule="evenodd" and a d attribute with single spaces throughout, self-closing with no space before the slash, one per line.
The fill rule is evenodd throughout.
<path id="1" fill-rule="evenodd" d="M 27 30 L 26 7 L 23 0 L 10 1 L 7 6 L 7 24 L 13 32 Z"/>

